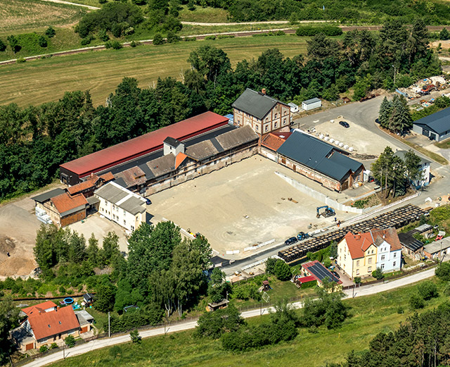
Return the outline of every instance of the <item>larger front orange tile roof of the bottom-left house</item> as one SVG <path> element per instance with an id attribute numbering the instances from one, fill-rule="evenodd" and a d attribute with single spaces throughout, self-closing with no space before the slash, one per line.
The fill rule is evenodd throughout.
<path id="1" fill-rule="evenodd" d="M 57 311 L 33 312 L 28 315 L 28 322 L 36 340 L 79 328 L 79 322 L 72 306 L 58 308 Z"/>

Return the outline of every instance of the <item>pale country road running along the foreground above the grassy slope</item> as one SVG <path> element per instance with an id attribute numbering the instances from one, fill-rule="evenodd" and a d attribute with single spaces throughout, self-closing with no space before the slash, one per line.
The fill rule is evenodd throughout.
<path id="1" fill-rule="evenodd" d="M 410 285 L 415 282 L 418 282 L 419 280 L 423 280 L 426 278 L 431 278 L 433 275 L 435 275 L 435 268 L 431 268 L 428 270 L 424 270 L 419 273 L 415 273 L 413 275 L 406 276 L 404 278 L 399 278 L 397 280 L 392 280 L 389 282 L 383 282 L 378 283 L 375 285 L 368 285 L 366 287 L 359 287 L 354 290 L 354 297 L 363 297 L 370 294 L 376 294 L 380 292 L 385 292 L 388 290 L 394 290 L 398 287 L 403 287 L 405 285 Z M 352 298 L 353 290 L 345 290 L 344 292 L 347 296 L 347 298 Z M 302 302 L 297 301 L 292 304 L 295 308 L 300 309 L 302 308 Z M 264 308 L 264 309 L 254 309 L 250 311 L 244 311 L 242 313 L 243 318 L 251 318 L 255 316 L 259 316 L 261 313 L 266 314 L 269 313 L 269 311 L 274 311 L 272 307 Z M 167 330 L 165 328 L 155 328 L 151 330 L 143 330 L 139 332 L 139 335 L 141 337 L 153 337 L 157 335 L 163 335 L 165 332 L 179 332 L 184 330 L 190 330 L 195 328 L 195 325 L 197 324 L 197 321 L 188 321 L 186 323 L 177 323 L 174 325 L 167 326 Z M 67 356 L 77 356 L 79 354 L 84 354 L 87 352 L 91 352 L 95 349 L 100 349 L 104 347 L 109 347 L 111 345 L 115 344 L 122 344 L 125 342 L 129 342 L 130 337 L 129 335 L 120 335 L 118 337 L 111 337 L 111 338 L 103 338 L 103 339 L 97 339 L 93 340 L 91 342 L 87 342 L 86 344 L 79 345 L 77 347 L 74 347 L 72 349 L 66 349 L 66 357 Z M 53 363 L 56 361 L 59 361 L 60 359 L 63 359 L 63 352 L 56 352 L 53 354 L 49 354 L 48 356 L 44 356 L 40 359 L 36 359 L 30 363 L 27 363 L 25 366 L 27 367 L 41 367 L 46 366 L 49 363 Z"/>

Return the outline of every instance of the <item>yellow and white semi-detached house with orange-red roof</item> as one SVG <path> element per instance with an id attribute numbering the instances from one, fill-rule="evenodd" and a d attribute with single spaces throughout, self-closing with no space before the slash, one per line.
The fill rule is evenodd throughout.
<path id="1" fill-rule="evenodd" d="M 338 244 L 336 263 L 350 278 L 401 269 L 401 244 L 397 230 L 373 228 L 365 233 L 348 232 Z"/>

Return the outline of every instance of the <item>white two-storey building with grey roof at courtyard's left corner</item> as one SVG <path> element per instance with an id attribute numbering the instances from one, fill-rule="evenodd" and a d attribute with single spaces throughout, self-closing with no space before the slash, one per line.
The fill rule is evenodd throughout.
<path id="1" fill-rule="evenodd" d="M 94 196 L 100 200 L 99 213 L 131 232 L 146 221 L 146 199 L 115 182 L 103 185 Z"/>

